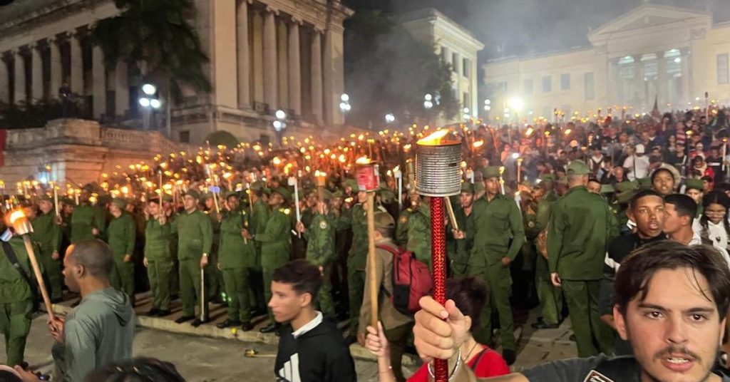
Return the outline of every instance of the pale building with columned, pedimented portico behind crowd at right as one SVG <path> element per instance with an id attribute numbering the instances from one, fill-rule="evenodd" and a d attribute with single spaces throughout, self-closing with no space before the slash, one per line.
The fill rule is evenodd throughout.
<path id="1" fill-rule="evenodd" d="M 591 30 L 588 42 L 484 64 L 489 117 L 519 104 L 512 99 L 524 104 L 520 119 L 616 105 L 650 112 L 655 99 L 660 110 L 704 107 L 705 92 L 730 104 L 730 23 L 710 12 L 644 3 Z"/>

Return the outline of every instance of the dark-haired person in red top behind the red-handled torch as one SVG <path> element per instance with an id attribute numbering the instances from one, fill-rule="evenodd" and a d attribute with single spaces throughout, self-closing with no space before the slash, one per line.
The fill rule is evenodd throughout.
<path id="1" fill-rule="evenodd" d="M 453 300 L 456 306 L 461 307 L 466 319 L 466 329 L 469 331 L 467 340 L 461 345 L 461 360 L 464 364 L 474 370 L 479 378 L 496 377 L 510 373 L 510 367 L 504 362 L 502 356 L 493 351 L 487 345 L 477 343 L 471 334 L 472 328 L 479 327 L 479 315 L 487 299 L 487 287 L 483 280 L 474 276 L 465 278 L 450 278 L 446 281 L 446 298 Z M 396 381 L 391 368 L 390 346 L 385 338 L 383 326 L 378 322 L 377 330 L 368 326 L 368 334 L 365 340 L 365 347 L 377 356 L 378 381 Z M 423 364 L 420 369 L 408 378 L 408 382 L 429 381 L 428 364 Z"/>

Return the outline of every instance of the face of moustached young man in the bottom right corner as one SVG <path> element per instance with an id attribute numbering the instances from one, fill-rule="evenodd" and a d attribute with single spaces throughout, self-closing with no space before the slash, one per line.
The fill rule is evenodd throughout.
<path id="1" fill-rule="evenodd" d="M 658 270 L 646 295 L 614 308 L 618 333 L 629 340 L 642 381 L 708 381 L 721 345 L 720 320 L 707 279 L 687 267 Z"/>

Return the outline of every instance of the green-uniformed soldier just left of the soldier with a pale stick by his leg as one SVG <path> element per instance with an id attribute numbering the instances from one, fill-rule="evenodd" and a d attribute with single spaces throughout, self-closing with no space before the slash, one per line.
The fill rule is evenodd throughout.
<path id="1" fill-rule="evenodd" d="M 160 205 L 160 199 L 150 199 L 145 210 L 145 259 L 147 277 L 152 291 L 152 308 L 147 316 L 169 316 L 172 260 L 172 224 Z"/>

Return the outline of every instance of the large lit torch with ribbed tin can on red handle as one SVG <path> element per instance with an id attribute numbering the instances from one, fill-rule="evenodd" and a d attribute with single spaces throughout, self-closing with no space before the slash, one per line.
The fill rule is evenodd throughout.
<path id="1" fill-rule="evenodd" d="M 433 264 L 434 299 L 446 303 L 446 234 L 444 231 L 444 198 L 461 191 L 461 142 L 448 137 L 449 130 L 439 130 L 418 141 L 416 189 L 431 196 L 431 262 Z M 436 382 L 448 380 L 448 361 L 434 361 Z"/>

